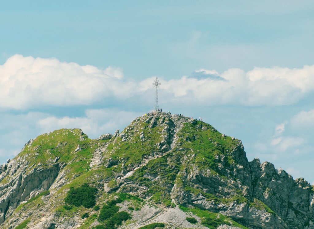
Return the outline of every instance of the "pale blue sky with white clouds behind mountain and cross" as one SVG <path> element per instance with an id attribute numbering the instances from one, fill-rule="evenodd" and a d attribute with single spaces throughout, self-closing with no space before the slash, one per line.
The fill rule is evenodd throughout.
<path id="1" fill-rule="evenodd" d="M 314 182 L 312 1 L 14 1 L 0 7 L 0 162 L 30 138 L 95 138 L 154 106 L 199 117 Z"/>

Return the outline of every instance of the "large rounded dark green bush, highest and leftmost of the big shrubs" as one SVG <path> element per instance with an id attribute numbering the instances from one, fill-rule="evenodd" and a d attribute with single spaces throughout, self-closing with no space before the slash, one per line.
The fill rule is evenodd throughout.
<path id="1" fill-rule="evenodd" d="M 85 208 L 91 208 L 96 204 L 97 191 L 97 188 L 89 187 L 86 183 L 78 188 L 71 187 L 64 201 L 77 207 L 83 205 Z"/>

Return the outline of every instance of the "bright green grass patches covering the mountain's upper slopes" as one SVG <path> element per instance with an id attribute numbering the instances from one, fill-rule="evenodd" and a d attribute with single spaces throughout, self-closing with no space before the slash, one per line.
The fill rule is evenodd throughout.
<path id="1" fill-rule="evenodd" d="M 159 120 L 157 119 L 157 121 Z M 62 207 L 66 193 L 64 191 L 68 190 L 69 187 L 78 187 L 85 182 L 96 182 L 94 185 L 97 187 L 97 182 L 103 179 L 111 180 L 112 185 L 115 185 L 115 179 L 113 179 L 115 174 L 118 174 L 129 165 L 135 167 L 141 163 L 145 155 L 159 151 L 156 143 L 162 139 L 162 127 L 157 125 L 154 128 L 149 128 L 149 124 L 144 122 L 137 123 L 139 126 L 133 126 L 133 124 L 122 131 L 122 133 L 128 135 L 128 140 L 124 142 L 120 137 L 105 141 L 91 140 L 79 129 L 61 129 L 37 137 L 31 146 L 25 147 L 19 154 L 19 156 L 27 156 L 30 162 L 28 171 L 38 166 L 38 164 L 42 168 L 50 166 L 49 164 L 51 163 L 48 162 L 55 157 L 59 157 L 58 162 L 66 164 L 64 170 L 68 171 L 66 176 L 69 182 L 58 189 L 56 193 L 51 194 L 50 197 L 50 202 L 53 203 L 52 209 L 54 209 L 57 215 L 72 217 L 73 215 L 89 212 L 90 216 L 81 226 L 81 228 L 88 228 L 87 226 L 96 219 L 98 211 L 86 209 L 82 206 L 65 210 Z M 202 130 L 202 127 L 206 127 L 205 129 L 207 130 Z M 145 136 L 144 142 L 140 140 L 141 131 L 143 131 Z M 130 180 L 149 187 L 148 193 L 152 195 L 151 200 L 153 202 L 164 204 L 165 206 L 171 205 L 170 190 L 175 183 L 184 185 L 185 190 L 188 192 L 193 192 L 194 194 L 195 192 L 200 192 L 200 190 L 182 181 L 180 171 L 189 171 L 196 166 L 200 170 L 209 169 L 218 175 L 219 170 L 216 168 L 216 163 L 214 163 L 215 155 L 224 154 L 227 157 L 226 163 L 232 164 L 234 161 L 231 156 L 228 156 L 228 152 L 232 151 L 239 144 L 238 140 L 222 137 L 212 126 L 199 121 L 194 124 L 186 123 L 178 133 L 178 136 L 179 140 L 176 148 L 165 156 L 149 161 L 147 165 L 136 170 L 133 176 L 130 177 Z M 105 157 L 117 160 L 118 162 L 115 166 L 106 168 L 104 165 L 100 165 L 96 169 L 90 169 L 89 163 L 92 153 L 99 144 L 107 145 Z M 74 152 L 78 145 L 81 150 Z M 177 151 L 177 148 L 183 148 L 184 152 Z M 190 159 L 185 160 L 183 157 Z M 160 179 L 151 181 L 144 178 L 144 174 L 159 176 Z M 220 176 L 224 175 L 220 174 Z M 97 204 L 102 205 L 108 197 L 109 195 L 106 193 L 99 193 Z M 211 194 L 208 194 L 206 197 L 216 198 Z M 217 198 L 217 201 L 223 200 Z M 38 204 L 44 204 L 44 202 L 41 201 L 41 198 L 36 198 L 35 201 L 19 207 L 17 211 L 21 209 L 26 211 L 28 208 L 34 208 L 35 204 L 38 207 Z M 193 211 L 192 213 L 196 214 Z"/>

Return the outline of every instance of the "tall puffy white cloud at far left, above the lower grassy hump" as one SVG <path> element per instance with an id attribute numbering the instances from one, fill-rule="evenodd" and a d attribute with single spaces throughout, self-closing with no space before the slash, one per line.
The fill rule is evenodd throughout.
<path id="1" fill-rule="evenodd" d="M 39 105 L 86 105 L 128 96 L 120 68 L 14 55 L 0 65 L 0 107 L 25 109 Z M 119 93 L 122 90 L 123 93 Z"/>

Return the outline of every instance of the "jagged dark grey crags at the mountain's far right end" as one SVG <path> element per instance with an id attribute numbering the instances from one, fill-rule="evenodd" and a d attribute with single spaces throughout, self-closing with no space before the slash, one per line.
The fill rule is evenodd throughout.
<path id="1" fill-rule="evenodd" d="M 303 178 L 293 180 L 283 169 L 259 159 L 250 162 L 253 197 L 261 200 L 290 228 L 313 227 L 313 190 Z"/>

